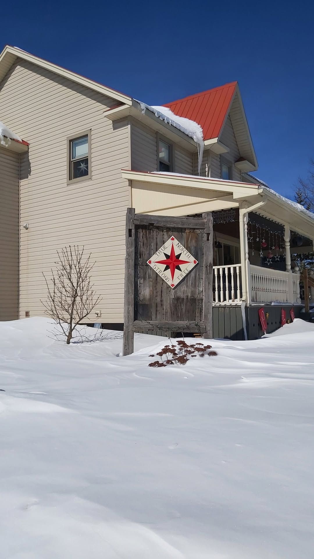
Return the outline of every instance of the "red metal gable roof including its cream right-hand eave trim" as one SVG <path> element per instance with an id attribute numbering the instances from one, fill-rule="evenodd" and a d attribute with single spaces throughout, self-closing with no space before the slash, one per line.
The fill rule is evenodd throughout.
<path id="1" fill-rule="evenodd" d="M 166 103 L 164 107 L 170 108 L 175 115 L 194 120 L 202 126 L 205 145 L 211 144 L 212 140 L 220 139 L 223 126 L 229 115 L 239 148 L 240 159 L 248 160 L 255 170 L 258 168 L 237 82 L 226 83 L 224 86 Z"/>

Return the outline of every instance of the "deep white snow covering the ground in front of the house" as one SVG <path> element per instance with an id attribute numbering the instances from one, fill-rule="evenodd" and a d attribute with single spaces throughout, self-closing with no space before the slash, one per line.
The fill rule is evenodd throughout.
<path id="1" fill-rule="evenodd" d="M 312 559 L 313 325 L 158 369 L 47 329 L 0 323 L 1 558 Z"/>

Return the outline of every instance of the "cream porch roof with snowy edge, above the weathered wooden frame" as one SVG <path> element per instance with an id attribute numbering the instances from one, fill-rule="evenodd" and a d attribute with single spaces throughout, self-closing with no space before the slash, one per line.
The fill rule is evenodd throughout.
<path id="1" fill-rule="evenodd" d="M 246 206 L 314 239 L 314 214 L 261 184 L 127 169 L 122 176 L 130 182 L 137 213 L 178 216 Z"/>

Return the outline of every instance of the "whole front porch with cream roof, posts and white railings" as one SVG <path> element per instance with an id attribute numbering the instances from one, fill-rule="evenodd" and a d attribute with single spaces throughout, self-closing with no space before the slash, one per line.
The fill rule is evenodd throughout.
<path id="1" fill-rule="evenodd" d="M 313 214 L 261 184 L 129 170 L 122 175 L 139 213 L 212 212 L 214 307 L 301 304 L 294 255 L 313 251 Z"/>

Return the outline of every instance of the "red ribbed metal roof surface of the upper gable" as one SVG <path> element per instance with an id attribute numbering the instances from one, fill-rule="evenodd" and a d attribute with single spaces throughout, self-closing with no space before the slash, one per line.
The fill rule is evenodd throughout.
<path id="1" fill-rule="evenodd" d="M 226 83 L 225 86 L 208 89 L 184 99 L 166 103 L 177 116 L 194 120 L 203 129 L 204 140 L 218 138 L 223 122 L 229 112 L 237 82 Z"/>

